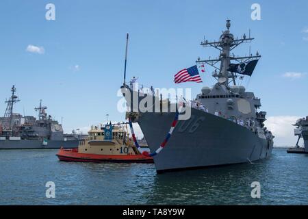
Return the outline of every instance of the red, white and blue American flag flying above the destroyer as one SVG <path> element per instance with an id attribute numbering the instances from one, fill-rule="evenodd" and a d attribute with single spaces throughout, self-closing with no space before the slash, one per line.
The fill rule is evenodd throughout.
<path id="1" fill-rule="evenodd" d="M 197 66 L 184 68 L 183 70 L 180 70 L 177 75 L 175 75 L 175 83 L 183 83 L 188 81 L 202 83 Z"/>

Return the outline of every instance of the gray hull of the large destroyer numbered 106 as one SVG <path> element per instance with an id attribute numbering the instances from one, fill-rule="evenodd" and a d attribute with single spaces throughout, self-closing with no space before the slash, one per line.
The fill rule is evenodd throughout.
<path id="1" fill-rule="evenodd" d="M 154 152 L 170 129 L 175 113 L 144 113 L 138 119 Z M 196 122 L 200 121 L 198 127 Z M 157 172 L 240 164 L 265 159 L 273 142 L 227 119 L 192 109 L 190 120 L 179 120 L 164 150 L 154 157 Z"/>

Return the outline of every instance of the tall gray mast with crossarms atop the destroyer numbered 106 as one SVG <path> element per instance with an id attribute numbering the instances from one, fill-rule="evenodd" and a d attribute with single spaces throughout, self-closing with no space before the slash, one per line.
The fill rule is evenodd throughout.
<path id="1" fill-rule="evenodd" d="M 219 41 L 208 42 L 207 40 L 204 40 L 201 42 L 201 46 L 203 47 L 214 47 L 215 49 L 218 49 L 220 51 L 220 56 L 214 59 L 209 58 L 208 60 L 200 60 L 200 58 L 198 58 L 196 64 L 209 64 L 210 66 L 214 67 L 216 70 L 212 74 L 213 77 L 215 77 L 219 83 L 224 83 L 225 86 L 229 86 L 229 79 L 231 79 L 233 84 L 236 85 L 235 78 L 237 77 L 234 73 L 228 71 L 231 60 L 242 63 L 260 58 L 261 55 L 259 55 L 259 53 L 256 55 L 249 54 L 248 56 L 243 57 L 235 57 L 235 55 L 230 55 L 230 52 L 240 44 L 251 42 L 254 40 L 254 38 L 251 38 L 250 36 L 246 38 L 246 35 L 244 34 L 242 38 L 234 39 L 233 34 L 230 33 L 230 20 L 227 20 L 226 27 L 227 30 L 222 32 Z M 220 67 L 217 66 L 219 62 Z"/>

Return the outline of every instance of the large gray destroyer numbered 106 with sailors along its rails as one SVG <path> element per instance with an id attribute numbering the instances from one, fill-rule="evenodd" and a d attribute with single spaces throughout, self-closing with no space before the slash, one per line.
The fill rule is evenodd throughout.
<path id="1" fill-rule="evenodd" d="M 154 157 L 157 172 L 240 164 L 270 157 L 274 136 L 264 126 L 266 112 L 259 111 L 260 99 L 253 92 L 246 92 L 244 86 L 236 84 L 238 76 L 251 76 L 246 74 L 245 68 L 249 63 L 256 64 L 261 55 L 230 55 L 235 47 L 253 40 L 250 36 L 246 38 L 245 34 L 235 39 L 230 27 L 228 20 L 227 29 L 217 42 L 201 42 L 203 47 L 214 47 L 220 51 L 217 59 L 198 58 L 196 61 L 196 64 L 209 64 L 216 68 L 212 76 L 217 83 L 213 88 L 203 87 L 201 94 L 191 103 L 186 101 L 186 107 L 191 107 L 191 116 L 188 120 L 179 120 L 164 150 Z M 231 61 L 235 63 L 231 64 Z M 219 63 L 220 66 L 216 66 Z M 238 72 L 230 71 L 231 67 L 237 67 Z M 170 112 L 170 109 L 177 103 L 163 100 L 155 92 L 140 95 L 140 91 L 133 90 L 125 82 L 121 90 L 129 105 L 127 117 L 140 125 L 151 152 L 154 152 L 175 119 L 175 112 Z M 137 100 L 134 96 L 138 96 Z M 155 104 L 158 99 L 160 112 L 154 109 L 153 112 L 144 112 L 138 104 L 134 104 L 149 97 Z M 149 110 L 152 106 L 147 107 Z"/>

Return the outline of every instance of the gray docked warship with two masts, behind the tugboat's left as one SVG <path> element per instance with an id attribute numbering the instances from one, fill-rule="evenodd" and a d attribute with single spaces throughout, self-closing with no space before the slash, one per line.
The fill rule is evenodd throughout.
<path id="1" fill-rule="evenodd" d="M 5 114 L 0 117 L 0 149 L 70 149 L 77 148 L 79 140 L 85 138 L 76 131 L 64 134 L 62 125 L 50 115 L 47 116 L 47 107 L 42 106 L 42 101 L 35 108 L 38 119 L 14 113 L 13 107 L 18 101 L 20 100 L 13 86 L 12 96 L 5 101 L 8 104 Z"/>

